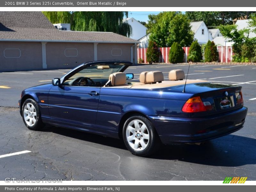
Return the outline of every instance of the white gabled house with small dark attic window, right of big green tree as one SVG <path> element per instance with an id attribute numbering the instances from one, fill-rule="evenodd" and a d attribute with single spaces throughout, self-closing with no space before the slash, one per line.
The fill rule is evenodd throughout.
<path id="1" fill-rule="evenodd" d="M 199 44 L 206 44 L 208 40 L 212 41 L 212 35 L 206 27 L 204 21 L 190 22 L 191 30 L 194 32 L 194 39 Z"/>

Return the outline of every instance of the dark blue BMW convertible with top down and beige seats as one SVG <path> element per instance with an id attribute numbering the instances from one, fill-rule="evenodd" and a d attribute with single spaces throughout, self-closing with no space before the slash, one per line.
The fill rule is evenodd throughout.
<path id="1" fill-rule="evenodd" d="M 138 156 L 154 153 L 161 143 L 196 143 L 243 127 L 247 108 L 241 86 L 185 80 L 184 71 L 144 71 L 129 82 L 128 61 L 83 63 L 61 79 L 22 91 L 25 125 L 45 124 L 122 138 Z"/>

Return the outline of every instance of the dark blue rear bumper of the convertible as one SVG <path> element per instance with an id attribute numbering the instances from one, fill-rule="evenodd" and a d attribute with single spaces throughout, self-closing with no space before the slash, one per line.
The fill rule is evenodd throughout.
<path id="1" fill-rule="evenodd" d="M 148 116 L 162 143 L 195 143 L 218 138 L 243 127 L 247 108 L 205 117 L 178 118 Z"/>

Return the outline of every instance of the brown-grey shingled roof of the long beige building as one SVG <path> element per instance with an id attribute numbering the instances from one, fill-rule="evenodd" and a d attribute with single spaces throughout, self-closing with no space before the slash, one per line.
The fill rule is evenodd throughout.
<path id="1" fill-rule="evenodd" d="M 42 12 L 0 12 L 0 40 L 139 43 L 112 32 L 60 31 Z"/>

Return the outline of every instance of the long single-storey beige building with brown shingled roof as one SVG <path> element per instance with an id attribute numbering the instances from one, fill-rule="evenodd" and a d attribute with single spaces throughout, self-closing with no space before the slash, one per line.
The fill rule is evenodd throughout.
<path id="1" fill-rule="evenodd" d="M 58 30 L 42 12 L 0 12 L 0 71 L 74 68 L 94 60 L 137 63 L 138 43 L 112 32 Z"/>

